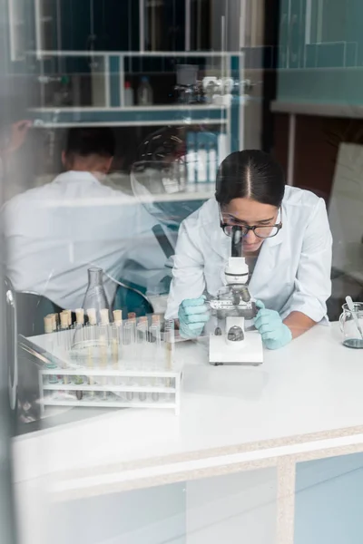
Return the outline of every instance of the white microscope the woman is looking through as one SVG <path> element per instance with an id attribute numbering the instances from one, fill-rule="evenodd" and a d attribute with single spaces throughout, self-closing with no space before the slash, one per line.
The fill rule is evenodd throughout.
<path id="1" fill-rule="evenodd" d="M 262 339 L 258 331 L 246 331 L 245 321 L 257 315 L 248 287 L 249 267 L 241 257 L 241 229 L 232 228 L 231 257 L 225 269 L 226 287 L 209 300 L 211 315 L 217 317 L 214 334 L 210 335 L 210 363 L 263 363 Z"/>

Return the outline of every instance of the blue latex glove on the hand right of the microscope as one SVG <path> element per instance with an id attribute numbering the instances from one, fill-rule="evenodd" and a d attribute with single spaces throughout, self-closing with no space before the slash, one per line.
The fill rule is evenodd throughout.
<path id="1" fill-rule="evenodd" d="M 262 336 L 263 345 L 268 349 L 279 349 L 289 344 L 292 340 L 291 331 L 282 322 L 279 313 L 275 310 L 267 310 L 260 300 L 256 301 L 256 306 L 260 310 L 253 321 Z"/>

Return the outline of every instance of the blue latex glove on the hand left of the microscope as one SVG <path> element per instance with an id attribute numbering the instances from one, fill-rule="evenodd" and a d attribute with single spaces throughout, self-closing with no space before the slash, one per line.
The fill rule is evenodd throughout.
<path id="1" fill-rule="evenodd" d="M 196 338 L 201 335 L 204 325 L 210 319 L 209 306 L 205 296 L 182 301 L 179 306 L 179 332 L 183 338 Z"/>

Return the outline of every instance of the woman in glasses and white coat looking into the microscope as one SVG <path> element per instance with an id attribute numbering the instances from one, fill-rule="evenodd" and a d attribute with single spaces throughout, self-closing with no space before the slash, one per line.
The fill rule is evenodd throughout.
<path id="1" fill-rule="evenodd" d="M 184 338 L 209 320 L 204 294 L 225 285 L 231 230 L 240 226 L 250 267 L 255 325 L 270 349 L 287 345 L 327 316 L 332 238 L 323 199 L 285 186 L 280 165 L 263 151 L 231 153 L 218 171 L 215 199 L 182 223 L 167 318 Z"/>

